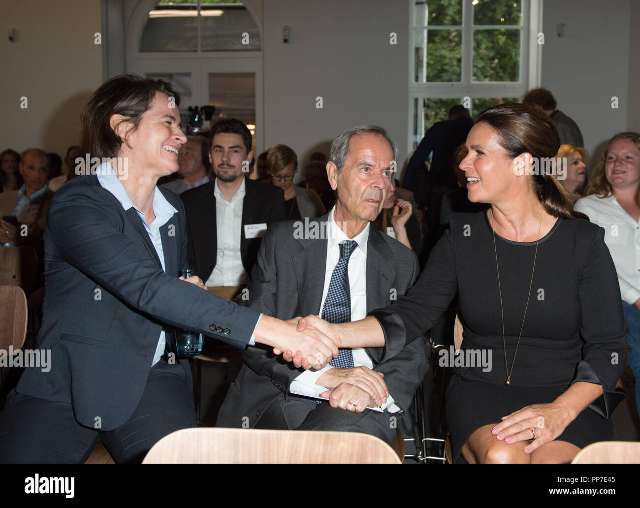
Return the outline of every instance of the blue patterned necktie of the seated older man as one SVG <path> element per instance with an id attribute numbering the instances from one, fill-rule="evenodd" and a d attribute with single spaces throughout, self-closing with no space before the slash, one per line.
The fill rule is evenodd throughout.
<path id="1" fill-rule="evenodd" d="M 358 244 L 354 240 L 346 240 L 339 243 L 340 259 L 333 273 L 329 290 L 324 299 L 322 318 L 330 323 L 346 323 L 351 321 L 351 290 L 349 289 L 349 257 Z M 338 358 L 333 358 L 329 365 L 339 369 L 353 367 L 353 354 L 351 349 L 340 348 Z"/>

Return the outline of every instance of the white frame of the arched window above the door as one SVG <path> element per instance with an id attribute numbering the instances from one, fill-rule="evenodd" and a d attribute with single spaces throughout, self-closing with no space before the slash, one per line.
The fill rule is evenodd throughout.
<path id="1" fill-rule="evenodd" d="M 132 74 L 191 74 L 191 104 L 209 104 L 209 72 L 246 72 L 255 74 L 255 146 L 257 153 L 264 147 L 264 102 L 262 86 L 262 50 L 260 51 L 200 51 L 200 28 L 198 25 L 198 51 L 141 52 L 142 37 L 148 13 L 158 0 L 140 0 L 125 27 L 125 68 Z M 251 0 L 243 0 L 260 33 L 261 47 L 264 45 L 261 17 Z"/>

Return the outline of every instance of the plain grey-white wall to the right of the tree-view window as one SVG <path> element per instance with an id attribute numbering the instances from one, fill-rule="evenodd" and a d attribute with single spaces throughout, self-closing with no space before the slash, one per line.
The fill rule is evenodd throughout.
<path id="1" fill-rule="evenodd" d="M 638 3 L 637 1 L 634 3 Z M 637 6 L 634 8 L 637 12 Z M 591 164 L 603 143 L 629 122 L 629 65 L 636 61 L 636 45 L 629 34 L 630 0 L 546 0 L 543 8 L 545 45 L 542 50 L 542 86 L 557 100 L 557 108 L 580 127 Z M 564 36 L 556 25 L 566 24 Z M 636 26 L 632 32 L 637 32 Z M 632 54 L 630 54 L 630 49 Z M 634 90 L 637 101 L 637 91 Z M 611 98 L 618 97 L 618 109 Z M 637 111 L 637 104 L 636 104 Z M 637 126 L 637 118 L 636 118 Z M 637 128 L 637 127 L 636 127 Z"/>

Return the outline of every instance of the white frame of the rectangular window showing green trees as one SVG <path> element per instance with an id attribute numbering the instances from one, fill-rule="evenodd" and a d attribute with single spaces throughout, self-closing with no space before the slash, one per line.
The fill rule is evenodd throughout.
<path id="1" fill-rule="evenodd" d="M 542 47 L 538 44 L 538 34 L 542 31 L 543 0 L 520 0 L 522 2 L 522 25 L 520 26 L 520 81 L 471 81 L 473 70 L 473 31 L 476 28 L 502 29 L 506 26 L 482 25 L 474 26 L 472 0 L 462 3 L 462 58 L 461 81 L 458 83 L 415 83 L 414 65 L 414 16 L 415 0 L 409 3 L 409 93 L 408 93 L 408 147 L 407 153 L 413 154 L 413 122 L 415 99 L 460 99 L 461 97 L 523 97 L 527 90 L 540 86 Z M 457 26 L 428 26 L 428 29 L 460 29 Z M 424 115 L 418 115 L 418 132 L 425 131 Z M 429 127 L 429 126 L 426 126 Z M 409 155 L 410 156 L 410 155 Z"/>

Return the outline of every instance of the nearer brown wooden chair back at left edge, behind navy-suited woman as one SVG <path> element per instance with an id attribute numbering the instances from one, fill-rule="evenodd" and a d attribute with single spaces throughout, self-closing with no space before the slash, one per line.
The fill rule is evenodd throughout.
<path id="1" fill-rule="evenodd" d="M 7 249 L 2 247 L 0 250 Z M 0 286 L 0 349 L 17 351 L 27 335 L 27 298 L 15 285 Z"/>

